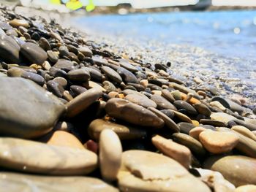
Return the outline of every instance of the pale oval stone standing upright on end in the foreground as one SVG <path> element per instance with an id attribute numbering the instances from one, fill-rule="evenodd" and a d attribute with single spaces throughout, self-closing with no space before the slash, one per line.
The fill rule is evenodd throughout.
<path id="1" fill-rule="evenodd" d="M 121 166 L 122 147 L 117 134 L 109 128 L 99 135 L 99 167 L 104 180 L 113 181 Z"/>

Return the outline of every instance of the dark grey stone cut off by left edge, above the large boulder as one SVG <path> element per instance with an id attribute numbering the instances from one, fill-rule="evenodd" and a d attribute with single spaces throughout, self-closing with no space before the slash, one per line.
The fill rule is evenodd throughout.
<path id="1" fill-rule="evenodd" d="M 6 62 L 19 63 L 20 46 L 15 42 L 15 39 L 7 35 L 0 35 L 0 58 Z"/>

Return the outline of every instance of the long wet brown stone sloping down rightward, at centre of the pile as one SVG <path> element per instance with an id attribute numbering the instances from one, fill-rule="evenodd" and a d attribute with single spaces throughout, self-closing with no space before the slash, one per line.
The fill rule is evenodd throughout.
<path id="1" fill-rule="evenodd" d="M 154 112 L 125 99 L 113 98 L 108 100 L 105 110 L 108 115 L 135 125 L 149 127 L 164 126 L 164 121 L 158 118 Z"/>

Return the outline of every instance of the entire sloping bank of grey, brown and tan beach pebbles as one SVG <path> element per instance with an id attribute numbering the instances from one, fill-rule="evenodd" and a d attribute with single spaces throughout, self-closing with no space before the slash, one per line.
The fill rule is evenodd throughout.
<path id="1" fill-rule="evenodd" d="M 256 191 L 256 119 L 170 63 L 0 12 L 4 191 Z M 200 79 L 195 81 L 200 82 Z"/>

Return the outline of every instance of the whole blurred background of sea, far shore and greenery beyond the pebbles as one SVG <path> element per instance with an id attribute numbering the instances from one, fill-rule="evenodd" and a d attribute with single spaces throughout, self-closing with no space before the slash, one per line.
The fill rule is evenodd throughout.
<path id="1" fill-rule="evenodd" d="M 256 101 L 256 0 L 1 2 L 65 13 L 91 39 L 147 62 L 172 61 L 173 72 L 220 80 Z"/>

